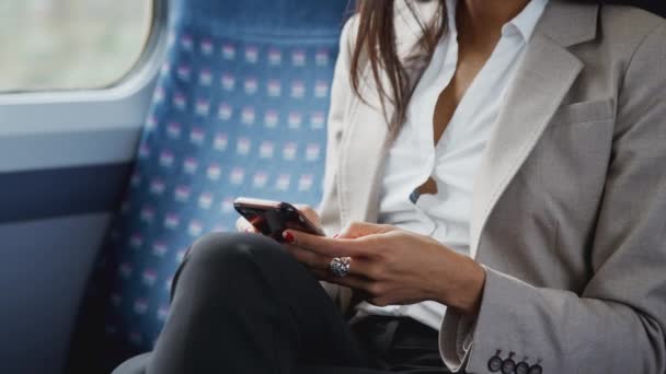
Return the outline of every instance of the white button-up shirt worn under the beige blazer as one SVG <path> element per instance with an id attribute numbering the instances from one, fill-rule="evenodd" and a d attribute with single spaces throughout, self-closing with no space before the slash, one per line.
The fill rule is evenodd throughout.
<path id="1" fill-rule="evenodd" d="M 531 0 L 502 27 L 500 42 L 435 145 L 435 104 L 458 63 L 457 0 L 447 0 L 448 32 L 416 85 L 406 121 L 388 153 L 381 180 L 379 223 L 428 235 L 469 256 L 469 221 L 476 170 L 504 94 L 547 3 L 548 0 Z M 430 176 L 437 183 L 437 194 L 421 195 L 412 202 L 412 192 Z M 446 306 L 433 301 L 384 307 L 364 302 L 358 305 L 357 317 L 409 316 L 439 329 L 445 312 Z"/>

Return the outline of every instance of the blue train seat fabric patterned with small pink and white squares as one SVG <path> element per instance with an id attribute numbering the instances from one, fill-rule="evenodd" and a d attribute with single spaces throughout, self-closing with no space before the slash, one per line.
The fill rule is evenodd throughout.
<path id="1" fill-rule="evenodd" d="M 70 372 L 107 372 L 152 348 L 185 249 L 207 232 L 233 230 L 236 197 L 310 204 L 321 197 L 346 1 L 175 7 L 169 57 L 83 304 Z"/>

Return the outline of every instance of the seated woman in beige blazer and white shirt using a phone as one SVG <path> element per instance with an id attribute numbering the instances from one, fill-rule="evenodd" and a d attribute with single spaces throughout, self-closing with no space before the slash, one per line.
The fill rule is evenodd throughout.
<path id="1" fill-rule="evenodd" d="M 666 22 L 361 0 L 332 97 L 337 235 L 199 239 L 117 372 L 666 372 Z"/>

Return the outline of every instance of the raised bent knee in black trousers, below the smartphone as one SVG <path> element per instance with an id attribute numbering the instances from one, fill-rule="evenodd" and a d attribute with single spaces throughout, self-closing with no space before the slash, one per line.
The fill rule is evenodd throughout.
<path id="1" fill-rule="evenodd" d="M 272 357 L 276 362 L 264 362 Z M 197 241 L 177 270 L 171 313 L 149 362 L 149 373 L 254 373 L 274 364 L 364 366 L 366 359 L 321 284 L 282 245 L 217 233 Z"/>

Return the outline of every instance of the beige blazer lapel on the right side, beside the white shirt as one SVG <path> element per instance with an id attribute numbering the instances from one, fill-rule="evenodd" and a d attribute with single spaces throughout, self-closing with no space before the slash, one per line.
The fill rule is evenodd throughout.
<path id="1" fill-rule="evenodd" d="M 535 30 L 487 142 L 472 198 L 470 252 L 487 218 L 583 69 L 566 46 L 595 37 L 597 7 L 552 1 Z"/>

